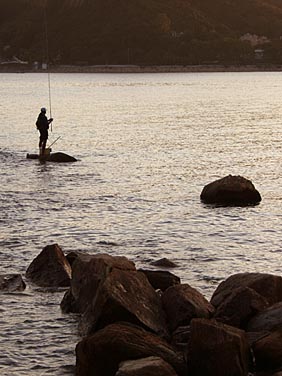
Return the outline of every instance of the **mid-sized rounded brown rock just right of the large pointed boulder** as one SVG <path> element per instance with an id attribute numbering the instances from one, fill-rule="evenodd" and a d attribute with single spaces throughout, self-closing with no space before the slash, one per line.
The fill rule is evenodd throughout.
<path id="1" fill-rule="evenodd" d="M 169 287 L 162 295 L 169 328 L 189 325 L 192 318 L 209 318 L 214 312 L 206 298 L 188 284 Z"/>

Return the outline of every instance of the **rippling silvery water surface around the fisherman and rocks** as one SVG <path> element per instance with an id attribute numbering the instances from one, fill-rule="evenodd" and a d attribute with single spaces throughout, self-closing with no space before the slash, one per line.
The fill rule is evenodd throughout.
<path id="1" fill-rule="evenodd" d="M 26 159 L 50 109 L 47 75 L 0 83 L 0 273 L 24 275 L 58 243 L 137 267 L 167 257 L 207 298 L 233 273 L 281 275 L 281 73 L 53 74 L 50 141 L 61 136 L 53 151 L 74 164 Z M 262 203 L 202 204 L 204 185 L 228 174 L 252 180 Z M 63 293 L 1 295 L 1 375 L 73 374 Z"/>

